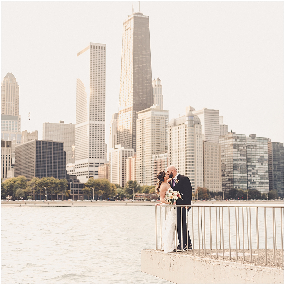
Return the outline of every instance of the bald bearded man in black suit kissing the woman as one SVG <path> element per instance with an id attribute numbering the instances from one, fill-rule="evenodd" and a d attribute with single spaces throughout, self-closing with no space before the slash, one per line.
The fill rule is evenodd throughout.
<path id="1" fill-rule="evenodd" d="M 175 166 L 170 165 L 167 167 L 166 172 L 169 174 L 169 178 L 172 178 L 169 182 L 171 188 L 174 191 L 179 191 L 182 194 L 183 199 L 178 199 L 177 205 L 189 205 L 192 200 L 192 186 L 189 178 L 185 175 L 181 175 L 177 172 Z M 187 215 L 190 207 L 187 209 Z M 177 251 L 187 251 L 187 235 L 186 235 L 186 208 L 182 207 L 182 232 L 183 232 L 183 249 L 181 247 L 181 207 L 177 207 L 177 234 L 179 240 L 179 246 Z M 191 239 L 188 231 L 188 249 L 192 249 Z M 176 251 L 176 249 L 174 250 Z"/>

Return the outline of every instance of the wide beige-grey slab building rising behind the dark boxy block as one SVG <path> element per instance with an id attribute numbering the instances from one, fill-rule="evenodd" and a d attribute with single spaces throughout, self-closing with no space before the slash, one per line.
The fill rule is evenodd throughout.
<path id="1" fill-rule="evenodd" d="M 66 164 L 74 163 L 75 156 L 75 125 L 72 123 L 43 123 L 43 140 L 63 143 L 66 152 Z"/>

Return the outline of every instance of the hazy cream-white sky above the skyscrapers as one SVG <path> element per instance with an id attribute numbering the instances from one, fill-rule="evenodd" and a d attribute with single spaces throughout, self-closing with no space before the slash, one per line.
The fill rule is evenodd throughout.
<path id="1" fill-rule="evenodd" d="M 118 112 L 123 21 L 138 2 L 2 2 L 2 78 L 20 86 L 22 130 L 75 123 L 76 53 L 106 44 L 106 143 Z M 283 142 L 283 2 L 141 2 L 152 77 L 169 120 L 220 110 L 229 131 Z M 31 120 L 28 121 L 28 113 Z"/>

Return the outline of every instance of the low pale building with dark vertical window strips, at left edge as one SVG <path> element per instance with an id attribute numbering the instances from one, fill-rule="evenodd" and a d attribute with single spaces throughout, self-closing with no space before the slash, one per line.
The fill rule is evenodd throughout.
<path id="1" fill-rule="evenodd" d="M 3 180 L 15 177 L 15 143 L 1 140 L 1 177 Z"/>

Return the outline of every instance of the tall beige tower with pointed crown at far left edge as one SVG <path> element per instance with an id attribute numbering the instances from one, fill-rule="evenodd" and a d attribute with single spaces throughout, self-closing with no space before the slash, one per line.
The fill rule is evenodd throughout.
<path id="1" fill-rule="evenodd" d="M 1 138 L 21 143 L 21 116 L 19 115 L 19 85 L 8 72 L 1 83 Z"/>

